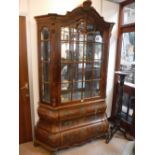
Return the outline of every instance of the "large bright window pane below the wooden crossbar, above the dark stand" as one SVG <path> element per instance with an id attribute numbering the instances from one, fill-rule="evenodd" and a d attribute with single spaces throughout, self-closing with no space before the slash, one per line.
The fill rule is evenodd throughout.
<path id="1" fill-rule="evenodd" d="M 135 32 L 123 33 L 121 70 L 128 71 L 126 82 L 134 83 L 135 78 Z"/>

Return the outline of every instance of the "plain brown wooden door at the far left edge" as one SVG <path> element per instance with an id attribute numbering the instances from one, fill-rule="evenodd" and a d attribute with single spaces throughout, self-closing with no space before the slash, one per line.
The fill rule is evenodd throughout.
<path id="1" fill-rule="evenodd" d="M 19 143 L 32 140 L 28 83 L 26 18 L 19 16 Z"/>

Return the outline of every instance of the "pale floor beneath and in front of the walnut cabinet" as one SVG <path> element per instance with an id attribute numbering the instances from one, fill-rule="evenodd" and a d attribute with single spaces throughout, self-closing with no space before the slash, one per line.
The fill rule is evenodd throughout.
<path id="1" fill-rule="evenodd" d="M 106 144 L 98 139 L 85 145 L 73 147 L 57 152 L 57 155 L 133 155 L 134 142 L 127 141 L 119 135 Z M 19 155 L 50 155 L 50 152 L 42 147 L 34 147 L 32 142 L 21 144 Z"/>

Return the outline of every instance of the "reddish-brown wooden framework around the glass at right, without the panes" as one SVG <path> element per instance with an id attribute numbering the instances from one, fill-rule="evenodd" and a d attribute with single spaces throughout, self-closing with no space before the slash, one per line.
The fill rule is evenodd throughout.
<path id="1" fill-rule="evenodd" d="M 122 49 L 122 34 L 125 32 L 135 32 L 135 22 L 131 24 L 122 25 L 123 21 L 123 8 L 131 3 L 134 3 L 135 0 L 126 0 L 125 2 L 120 3 L 119 7 L 119 23 L 118 23 L 118 42 L 117 42 L 117 51 L 116 51 L 116 62 L 115 62 L 115 71 L 120 70 L 120 60 L 121 60 L 121 49 Z M 116 101 L 117 101 L 117 91 L 119 86 L 119 76 L 114 75 L 114 90 L 113 90 L 113 100 L 112 100 L 112 110 L 110 120 L 115 119 L 115 109 L 116 109 Z M 124 84 L 124 92 L 129 96 L 135 96 L 135 88 L 134 86 Z M 135 106 L 135 105 L 134 105 Z M 121 126 L 124 129 L 128 129 L 132 136 L 135 136 L 135 111 L 133 113 L 133 121 L 132 125 L 121 122 Z"/>

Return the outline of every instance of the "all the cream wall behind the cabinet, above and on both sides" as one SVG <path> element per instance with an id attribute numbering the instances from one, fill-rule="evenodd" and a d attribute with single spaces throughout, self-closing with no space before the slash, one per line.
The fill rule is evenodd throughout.
<path id="1" fill-rule="evenodd" d="M 37 34 L 36 23 L 34 16 L 59 13 L 65 14 L 66 11 L 71 11 L 84 0 L 20 0 L 20 15 L 26 16 L 27 23 L 27 46 L 28 46 L 28 67 L 31 92 L 31 109 L 33 115 L 33 123 L 38 120 L 37 107 L 39 100 L 38 92 L 38 67 L 37 67 Z M 110 116 L 113 92 L 114 64 L 116 53 L 117 40 L 117 20 L 118 20 L 118 5 L 107 2 L 105 0 L 92 0 L 94 8 L 100 13 L 105 20 L 115 22 L 110 39 L 110 55 L 108 67 L 107 81 L 107 113 Z M 61 3 L 61 5 L 60 5 Z M 63 4 L 62 4 L 63 3 Z"/>

